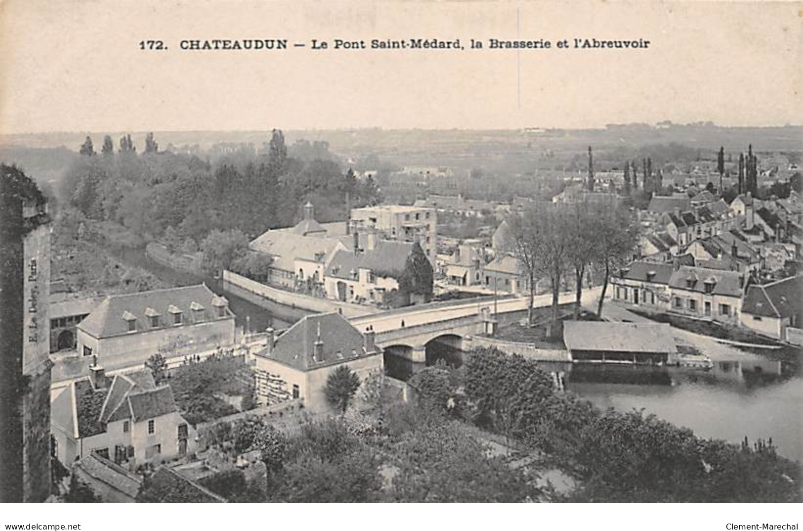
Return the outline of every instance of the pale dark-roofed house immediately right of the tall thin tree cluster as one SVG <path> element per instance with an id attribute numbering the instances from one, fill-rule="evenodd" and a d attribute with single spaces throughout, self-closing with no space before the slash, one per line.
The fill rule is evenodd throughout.
<path id="1" fill-rule="evenodd" d="M 613 300 L 634 305 L 668 310 L 669 279 L 675 268 L 671 263 L 634 262 L 611 276 Z"/>

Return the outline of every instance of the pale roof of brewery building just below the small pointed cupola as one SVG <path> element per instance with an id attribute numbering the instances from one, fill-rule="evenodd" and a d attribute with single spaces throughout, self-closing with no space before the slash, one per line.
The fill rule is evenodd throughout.
<path id="1" fill-rule="evenodd" d="M 271 255 L 271 267 L 294 272 L 296 259 L 318 261 L 325 259 L 336 248 L 343 246 L 340 239 L 298 235 L 292 231 L 267 231 L 253 240 L 251 251 Z"/>

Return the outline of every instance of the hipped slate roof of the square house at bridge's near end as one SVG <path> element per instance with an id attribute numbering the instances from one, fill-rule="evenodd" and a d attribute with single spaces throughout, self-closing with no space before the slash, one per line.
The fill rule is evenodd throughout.
<path id="1" fill-rule="evenodd" d="M 323 353 L 314 360 L 314 346 L 319 337 L 324 344 Z M 365 355 L 363 347 L 362 333 L 340 313 L 332 312 L 304 317 L 276 337 L 272 351 L 266 348 L 258 355 L 297 370 L 312 370 L 354 358 L 353 352 Z M 373 353 L 378 352 L 377 349 Z"/>

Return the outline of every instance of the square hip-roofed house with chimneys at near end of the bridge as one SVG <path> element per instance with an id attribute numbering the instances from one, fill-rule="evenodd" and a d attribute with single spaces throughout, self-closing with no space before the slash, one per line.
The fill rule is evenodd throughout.
<path id="1" fill-rule="evenodd" d="M 381 373 L 381 349 L 373 330 L 365 334 L 336 312 L 310 315 L 279 335 L 268 329 L 267 346 L 251 354 L 259 402 L 301 400 L 312 411 L 325 411 L 329 374 L 348 366 L 361 381 Z"/>

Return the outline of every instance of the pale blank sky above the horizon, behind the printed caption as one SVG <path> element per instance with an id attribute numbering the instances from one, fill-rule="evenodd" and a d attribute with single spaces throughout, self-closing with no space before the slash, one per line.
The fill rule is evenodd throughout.
<path id="1" fill-rule="evenodd" d="M 803 124 L 803 2 L 0 2 L 6 134 Z M 419 38 L 552 48 L 332 49 Z M 593 38 L 650 47 L 556 48 Z M 181 39 L 307 46 L 181 51 Z"/>

